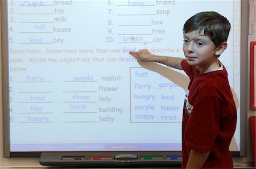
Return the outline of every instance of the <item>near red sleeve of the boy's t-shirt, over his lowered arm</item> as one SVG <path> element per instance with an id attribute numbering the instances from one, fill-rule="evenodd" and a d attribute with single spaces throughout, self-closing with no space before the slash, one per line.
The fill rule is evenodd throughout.
<path id="1" fill-rule="evenodd" d="M 217 98 L 200 98 L 194 105 L 185 128 L 185 143 L 191 150 L 207 152 L 212 149 L 218 134 L 219 114 Z"/>

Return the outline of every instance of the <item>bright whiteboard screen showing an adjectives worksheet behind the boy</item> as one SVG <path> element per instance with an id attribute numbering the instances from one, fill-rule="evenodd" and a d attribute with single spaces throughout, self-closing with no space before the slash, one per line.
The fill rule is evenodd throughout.
<path id="1" fill-rule="evenodd" d="M 139 65 L 129 52 L 184 57 L 183 24 L 202 11 L 232 25 L 220 60 L 237 103 L 231 150 L 239 151 L 240 3 L 7 1 L 10 151 L 181 151 L 187 76 Z"/>

